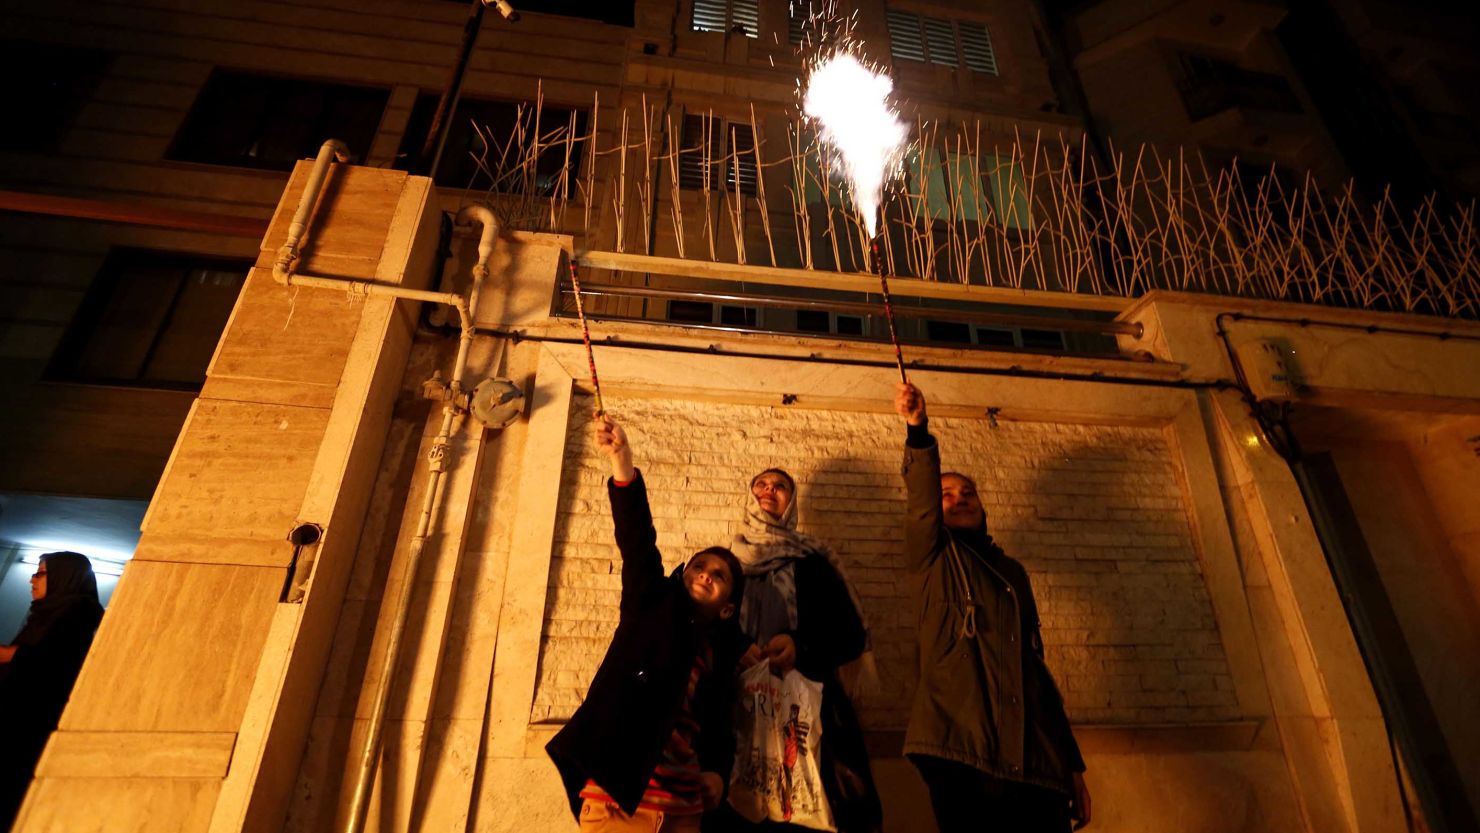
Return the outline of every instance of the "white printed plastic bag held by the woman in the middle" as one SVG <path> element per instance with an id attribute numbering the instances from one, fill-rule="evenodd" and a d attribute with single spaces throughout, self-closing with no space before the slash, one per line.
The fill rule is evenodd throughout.
<path id="1" fill-rule="evenodd" d="M 836 830 L 823 793 L 823 684 L 756 663 L 740 675 L 730 806 L 749 821 Z"/>

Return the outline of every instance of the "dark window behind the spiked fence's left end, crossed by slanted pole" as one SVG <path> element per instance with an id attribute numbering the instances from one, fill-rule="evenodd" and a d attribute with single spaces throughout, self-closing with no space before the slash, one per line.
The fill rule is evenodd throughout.
<path id="1" fill-rule="evenodd" d="M 398 169 L 410 167 L 422 152 L 440 99 L 440 93 L 417 96 L 401 138 Z M 459 99 L 434 181 L 502 194 L 573 194 L 588 124 L 589 112 L 570 107 Z"/>

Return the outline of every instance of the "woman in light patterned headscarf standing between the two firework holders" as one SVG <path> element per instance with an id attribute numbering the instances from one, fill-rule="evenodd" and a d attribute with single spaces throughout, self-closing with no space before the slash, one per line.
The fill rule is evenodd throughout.
<path id="1" fill-rule="evenodd" d="M 884 824 L 863 729 L 851 695 L 876 682 L 873 650 L 858 592 L 830 546 L 796 531 L 796 481 L 767 469 L 750 481 L 744 521 L 730 549 L 746 574 L 740 627 L 780 672 L 795 667 L 823 684 L 821 778 L 839 833 L 875 833 Z M 725 830 L 801 830 L 752 826 L 725 808 Z"/>

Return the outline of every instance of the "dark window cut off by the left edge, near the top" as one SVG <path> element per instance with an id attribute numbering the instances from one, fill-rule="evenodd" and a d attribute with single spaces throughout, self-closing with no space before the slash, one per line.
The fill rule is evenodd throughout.
<path id="1" fill-rule="evenodd" d="M 96 49 L 0 41 L 10 114 L 9 126 L 0 130 L 0 149 L 56 152 L 111 61 Z"/>

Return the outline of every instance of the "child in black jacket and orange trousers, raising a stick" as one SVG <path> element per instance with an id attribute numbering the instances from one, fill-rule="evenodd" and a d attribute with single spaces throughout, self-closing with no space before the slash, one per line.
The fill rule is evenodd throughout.
<path id="1" fill-rule="evenodd" d="M 710 547 L 665 576 L 626 432 L 598 416 L 595 439 L 611 459 L 620 618 L 586 700 L 545 750 L 583 832 L 697 832 L 724 797 L 734 758 L 734 669 L 749 647 L 734 624 L 744 574 L 728 549 Z"/>

